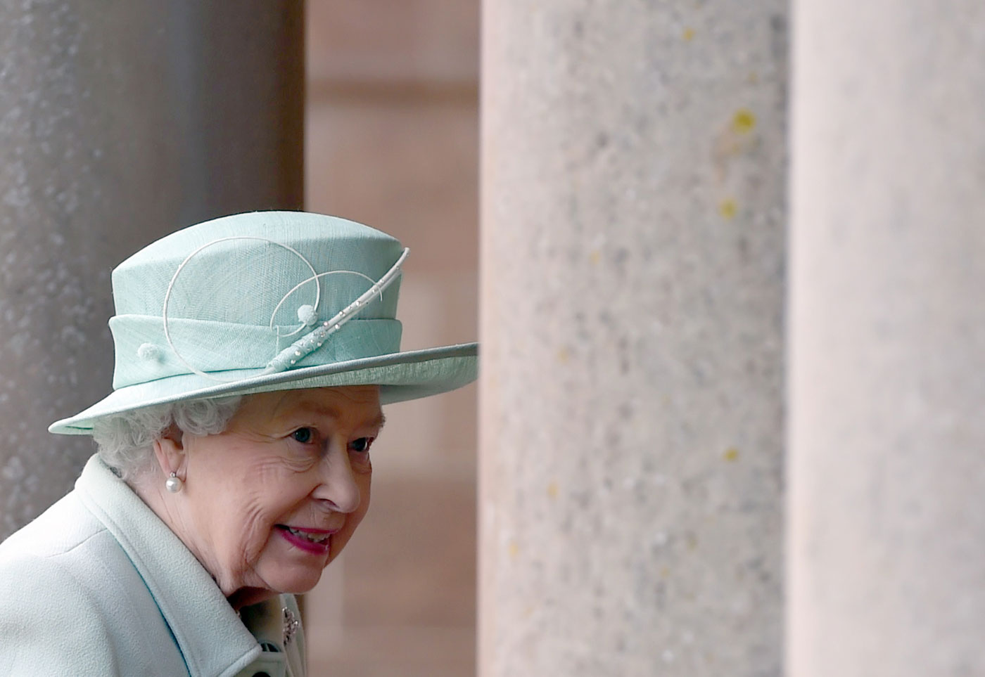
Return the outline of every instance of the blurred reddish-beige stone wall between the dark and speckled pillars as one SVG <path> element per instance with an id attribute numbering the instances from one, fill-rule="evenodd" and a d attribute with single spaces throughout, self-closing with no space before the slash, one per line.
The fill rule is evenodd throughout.
<path id="1" fill-rule="evenodd" d="M 404 347 L 477 337 L 478 0 L 310 0 L 306 208 L 411 248 Z M 312 675 L 475 671 L 470 387 L 387 410 L 372 508 L 308 595 Z"/>

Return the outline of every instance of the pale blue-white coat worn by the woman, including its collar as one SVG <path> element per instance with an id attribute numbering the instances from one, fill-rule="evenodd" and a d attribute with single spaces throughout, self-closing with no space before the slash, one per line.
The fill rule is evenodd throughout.
<path id="1" fill-rule="evenodd" d="M 230 607 L 194 555 L 98 457 L 75 490 L 0 544 L 0 674 L 304 674 L 292 595 Z M 259 638 L 268 650 L 261 651 Z M 276 650 L 270 650 L 276 649 Z"/>

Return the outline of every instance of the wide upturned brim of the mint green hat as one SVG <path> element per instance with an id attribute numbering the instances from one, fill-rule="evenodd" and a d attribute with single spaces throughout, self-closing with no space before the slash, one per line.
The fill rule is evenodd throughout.
<path id="1" fill-rule="evenodd" d="M 55 421 L 48 431 L 57 435 L 90 435 L 93 422 L 99 418 L 144 406 L 302 388 L 379 386 L 382 404 L 417 400 L 447 393 L 475 381 L 478 355 L 478 343 L 462 343 L 277 374 L 259 375 L 259 369 L 226 371 L 216 375 L 223 383 L 198 374 L 171 376 L 116 390 L 75 416 Z"/>

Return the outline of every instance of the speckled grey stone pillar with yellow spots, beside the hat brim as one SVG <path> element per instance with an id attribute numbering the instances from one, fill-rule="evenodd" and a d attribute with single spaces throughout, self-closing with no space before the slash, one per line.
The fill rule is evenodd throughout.
<path id="1" fill-rule="evenodd" d="M 485 5 L 483 677 L 781 672 L 786 6 Z"/>

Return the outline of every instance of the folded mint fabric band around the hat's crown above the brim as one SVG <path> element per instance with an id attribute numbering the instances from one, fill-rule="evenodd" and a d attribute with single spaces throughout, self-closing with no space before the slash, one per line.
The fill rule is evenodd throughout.
<path id="1" fill-rule="evenodd" d="M 187 362 L 203 372 L 232 369 L 263 370 L 290 344 L 277 329 L 206 320 L 168 318 L 171 342 L 164 337 L 159 316 L 117 315 L 109 320 L 115 346 L 113 390 L 169 376 L 193 373 Z M 402 326 L 392 319 L 353 319 L 328 340 L 298 359 L 290 369 L 334 364 L 400 351 Z"/>

